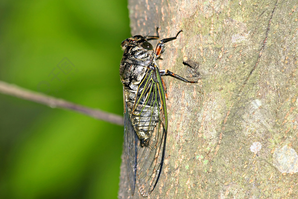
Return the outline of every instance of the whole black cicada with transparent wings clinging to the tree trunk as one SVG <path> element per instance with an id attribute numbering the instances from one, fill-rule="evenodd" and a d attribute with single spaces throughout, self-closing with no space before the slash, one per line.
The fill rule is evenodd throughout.
<path id="1" fill-rule="evenodd" d="M 166 87 L 163 75 L 188 81 L 169 70 L 159 70 L 156 59 L 164 52 L 165 38 L 158 42 L 155 53 L 150 39 L 157 36 L 132 36 L 121 43 L 124 50 L 120 64 L 124 101 L 124 145 L 132 195 L 135 184 L 147 197 L 159 180 L 164 162 L 167 138 Z"/>

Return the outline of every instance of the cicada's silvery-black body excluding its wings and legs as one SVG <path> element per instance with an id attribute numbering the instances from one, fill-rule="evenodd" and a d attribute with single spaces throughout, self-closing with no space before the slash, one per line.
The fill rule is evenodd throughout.
<path id="1" fill-rule="evenodd" d="M 156 93 L 153 92 L 156 90 L 153 82 L 157 82 L 157 79 L 153 79 L 155 75 L 150 75 L 156 72 L 154 64 L 153 50 L 146 50 L 137 42 L 130 42 L 130 45 L 125 46 L 120 77 L 131 123 L 140 140 L 140 146 L 148 146 L 150 135 L 159 120 L 160 107 L 156 102 L 160 99 L 154 99 Z"/>

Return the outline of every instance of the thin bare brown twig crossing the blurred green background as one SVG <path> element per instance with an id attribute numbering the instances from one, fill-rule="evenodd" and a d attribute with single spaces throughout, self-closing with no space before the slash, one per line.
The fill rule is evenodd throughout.
<path id="1" fill-rule="evenodd" d="M 52 96 L 44 95 L 38 92 L 33 92 L 13 84 L 8 84 L 4 81 L 0 81 L 0 93 L 12 95 L 29 101 L 34 101 L 40 104 L 45 104 L 51 108 L 63 108 L 74 110 L 89 115 L 93 118 L 110 122 L 112 124 L 123 125 L 123 117 L 119 115 L 104 112 L 98 109 L 87 108 L 69 101 L 65 101 L 63 99 L 54 98 Z"/>

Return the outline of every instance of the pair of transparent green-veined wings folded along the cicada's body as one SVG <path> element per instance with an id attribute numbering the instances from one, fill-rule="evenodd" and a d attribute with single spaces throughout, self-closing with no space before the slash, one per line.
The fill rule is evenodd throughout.
<path id="1" fill-rule="evenodd" d="M 156 65 L 148 69 L 140 83 L 131 114 L 125 100 L 124 104 L 124 143 L 131 189 L 134 192 L 136 183 L 140 193 L 146 197 L 159 180 L 167 137 L 164 88 Z M 141 144 L 138 132 L 149 135 L 145 145 Z"/>

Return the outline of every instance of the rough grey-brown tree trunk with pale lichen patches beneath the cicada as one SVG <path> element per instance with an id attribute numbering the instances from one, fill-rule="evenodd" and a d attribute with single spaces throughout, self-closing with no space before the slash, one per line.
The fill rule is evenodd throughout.
<path id="1" fill-rule="evenodd" d="M 184 31 L 159 68 L 196 79 L 183 56 L 201 67 L 195 85 L 164 78 L 167 147 L 150 198 L 298 197 L 297 5 L 129 1 L 132 35 Z M 131 196 L 123 155 L 119 198 L 142 198 Z"/>

